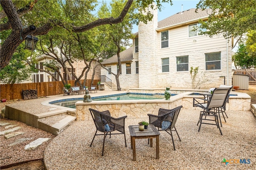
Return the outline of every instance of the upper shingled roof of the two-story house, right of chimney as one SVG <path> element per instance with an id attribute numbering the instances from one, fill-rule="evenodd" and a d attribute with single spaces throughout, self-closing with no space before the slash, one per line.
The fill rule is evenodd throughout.
<path id="1" fill-rule="evenodd" d="M 181 23 L 187 23 L 189 21 L 196 21 L 202 18 L 208 18 L 210 14 L 212 14 L 211 9 L 201 10 L 198 9 L 197 13 L 195 12 L 196 8 L 191 8 L 190 10 L 185 10 L 183 12 L 179 12 L 174 14 L 162 21 L 158 22 L 158 29 L 162 29 L 164 27 L 170 27 L 174 25 L 180 25 Z"/>

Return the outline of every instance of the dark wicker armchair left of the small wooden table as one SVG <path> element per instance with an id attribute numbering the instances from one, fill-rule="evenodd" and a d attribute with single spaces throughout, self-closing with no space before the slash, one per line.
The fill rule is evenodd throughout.
<path id="1" fill-rule="evenodd" d="M 105 144 L 105 139 L 106 139 L 107 135 L 109 135 L 111 137 L 111 135 L 124 134 L 125 147 L 127 147 L 126 137 L 125 137 L 125 118 L 127 116 L 114 118 L 114 117 L 110 116 L 110 112 L 108 110 L 106 110 L 106 111 L 97 111 L 94 109 L 89 109 L 89 110 L 92 115 L 94 124 L 96 126 L 96 132 L 92 139 L 92 142 L 94 141 L 94 138 L 96 135 L 104 135 L 102 156 L 104 155 L 104 144 Z M 98 131 L 100 131 L 104 134 L 97 134 Z M 118 132 L 112 133 L 114 131 L 118 131 Z M 92 143 L 91 143 L 90 147 L 91 146 L 92 146 Z"/>

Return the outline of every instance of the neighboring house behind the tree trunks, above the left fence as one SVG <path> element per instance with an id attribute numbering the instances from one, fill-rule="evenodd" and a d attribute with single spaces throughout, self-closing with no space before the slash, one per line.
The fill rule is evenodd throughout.
<path id="1" fill-rule="evenodd" d="M 44 69 L 43 63 L 46 61 L 51 61 L 53 60 L 52 57 L 48 56 L 48 55 L 42 55 L 40 57 L 36 58 L 37 60 L 37 64 L 35 65 L 36 68 L 40 68 L 40 69 Z M 74 73 L 77 76 L 80 76 L 80 74 L 82 73 L 83 68 L 86 66 L 84 64 L 84 61 L 74 61 L 74 63 L 72 63 L 74 66 Z M 96 64 L 96 61 L 93 61 L 91 64 L 91 68 L 90 71 L 87 74 L 87 79 L 91 79 L 92 78 L 92 74 L 93 74 L 93 68 Z M 70 67 L 70 66 L 69 66 Z M 69 71 L 71 71 L 71 67 L 68 68 Z M 74 76 L 72 76 L 72 78 L 70 78 L 70 76 L 68 76 L 67 74 L 65 74 L 63 67 L 61 67 L 61 65 L 59 66 L 59 71 L 62 74 L 63 77 L 67 77 L 68 80 L 75 80 Z M 52 74 L 54 74 L 54 76 L 57 77 L 57 81 L 61 81 L 60 76 L 58 75 L 57 72 L 51 72 Z M 85 73 L 84 73 L 85 74 Z M 94 79 L 99 79 L 100 76 L 100 66 L 96 67 L 95 70 L 95 75 L 94 75 Z M 82 80 L 84 80 L 84 77 L 82 78 Z M 38 71 L 37 73 L 32 73 L 31 75 L 31 80 L 30 81 L 24 81 L 23 83 L 27 83 L 27 82 L 53 82 L 56 81 L 50 74 L 43 72 L 43 71 Z"/>

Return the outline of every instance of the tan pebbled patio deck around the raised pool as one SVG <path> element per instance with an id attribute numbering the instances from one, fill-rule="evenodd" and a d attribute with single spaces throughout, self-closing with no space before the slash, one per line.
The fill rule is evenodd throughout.
<path id="1" fill-rule="evenodd" d="M 98 91 L 90 93 L 91 96 L 118 94 L 125 91 Z M 22 108 L 32 114 L 41 114 L 51 111 L 53 107 L 42 105 L 45 101 L 58 98 L 83 97 L 74 96 L 49 96 L 36 100 L 27 100 L 10 104 Z M 61 109 L 61 108 L 57 108 Z M 130 133 L 128 126 L 136 125 L 139 121 L 148 119 L 126 119 L 126 142 L 123 135 L 112 135 L 106 138 L 104 156 L 101 156 L 103 136 L 96 136 L 92 147 L 91 140 L 96 131 L 92 120 L 74 121 L 67 129 L 56 136 L 44 152 L 44 165 L 47 170 L 87 170 L 87 169 L 255 169 L 256 167 L 256 119 L 251 111 L 226 111 L 227 122 L 222 122 L 223 135 L 213 125 L 202 125 L 198 132 L 200 110 L 182 108 L 176 129 L 181 137 L 178 140 L 174 133 L 173 149 L 170 135 L 161 132 L 159 146 L 160 159 L 156 160 L 156 142 L 150 148 L 147 139 L 136 140 L 136 161 L 132 160 Z M 223 158 L 230 160 L 225 165 Z M 235 160 L 234 160 L 235 159 Z M 234 163 L 236 160 L 246 161 Z M 249 163 L 249 161 L 250 163 Z"/>

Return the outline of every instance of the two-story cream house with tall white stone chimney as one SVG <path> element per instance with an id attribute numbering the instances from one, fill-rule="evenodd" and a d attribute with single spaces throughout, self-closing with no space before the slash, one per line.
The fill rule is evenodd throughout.
<path id="1" fill-rule="evenodd" d="M 207 12 L 209 14 L 209 10 Z M 133 46 L 120 53 L 121 88 L 191 88 L 190 68 L 197 66 L 196 83 L 207 79 L 198 88 L 232 84 L 232 40 L 222 35 L 210 38 L 192 31 L 199 25 L 199 19 L 207 21 L 207 12 L 195 13 L 192 8 L 158 22 L 157 10 L 154 10 L 152 21 L 140 22 Z M 102 64 L 113 73 L 117 72 L 116 55 Z M 104 68 L 101 73 L 116 82 Z"/>

